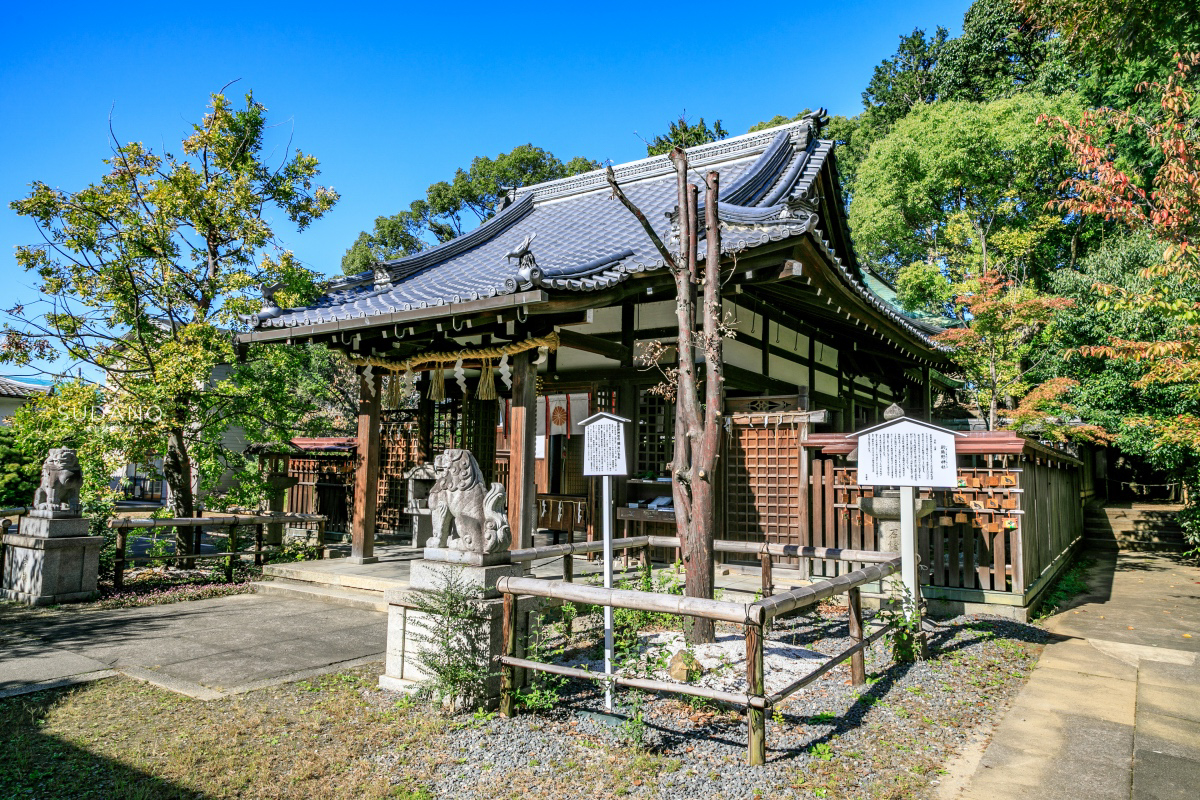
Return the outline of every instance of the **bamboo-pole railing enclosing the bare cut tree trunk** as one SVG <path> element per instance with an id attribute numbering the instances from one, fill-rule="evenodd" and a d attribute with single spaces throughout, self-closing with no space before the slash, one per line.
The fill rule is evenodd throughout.
<path id="1" fill-rule="evenodd" d="M 636 537 L 640 546 L 647 547 L 650 542 L 641 542 L 649 537 Z M 589 543 L 581 543 L 587 546 Z M 613 542 L 616 546 L 616 542 Z M 630 540 L 623 542 L 626 547 L 637 546 Z M 565 547 L 580 547 L 565 546 Z M 564 547 L 564 546 L 560 546 Z M 793 547 L 793 546 L 788 546 Z M 538 548 L 546 549 L 546 548 Z M 520 552 L 520 551 L 518 551 Z M 835 553 L 827 548 L 800 547 L 790 553 L 804 558 L 829 558 L 835 559 Z M 811 585 L 792 591 L 786 591 L 754 603 L 736 603 L 725 600 L 707 600 L 700 597 L 684 597 L 682 595 L 660 595 L 650 591 L 637 591 L 632 589 L 602 589 L 600 587 L 588 587 L 572 584 L 565 581 L 545 581 L 540 578 L 516 578 L 505 577 L 496 583 L 497 590 L 504 597 L 503 616 L 503 651 L 498 661 L 500 662 L 500 714 L 511 716 L 516 710 L 516 670 L 533 669 L 539 672 L 608 682 L 617 686 L 626 686 L 652 692 L 666 692 L 673 694 L 686 694 L 702 697 L 710 700 L 742 705 L 746 709 L 748 724 L 748 756 L 746 760 L 751 765 L 764 764 L 767 760 L 767 711 L 781 703 L 788 696 L 800 691 L 812 681 L 821 678 L 838 664 L 851 661 L 851 682 L 856 686 L 866 680 L 865 661 L 863 651 L 872 642 L 884 636 L 890 627 L 882 626 L 866 636 L 863 628 L 860 587 L 882 581 L 889 575 L 900 570 L 900 559 L 894 554 L 880 553 L 854 553 L 853 555 L 870 555 L 887 560 L 868 565 L 859 570 L 853 570 L 829 581 L 820 581 Z M 838 559 L 840 560 L 840 559 Z M 851 560 L 851 559 L 846 559 Z M 857 558 L 853 560 L 858 560 Z M 821 600 L 835 595 L 847 595 L 848 627 L 853 644 L 841 652 L 832 656 L 816 670 L 792 681 L 784 688 L 770 694 L 766 691 L 763 674 L 763 634 L 770 621 L 782 614 L 788 614 L 800 608 L 812 606 Z M 673 681 L 653 680 L 647 678 L 632 678 L 626 675 L 608 675 L 594 673 L 587 669 L 566 667 L 563 664 L 546 663 L 529 658 L 517 657 L 517 613 L 516 599 L 518 595 L 534 597 L 547 597 L 562 602 L 578 602 L 592 606 L 607 606 L 613 608 L 629 608 L 644 612 L 676 614 L 710 619 L 714 621 L 733 622 L 742 625 L 745 634 L 746 652 L 746 690 L 744 692 L 726 692 L 709 688 L 707 686 L 692 686 Z M 524 648 L 521 648 L 524 651 Z"/>

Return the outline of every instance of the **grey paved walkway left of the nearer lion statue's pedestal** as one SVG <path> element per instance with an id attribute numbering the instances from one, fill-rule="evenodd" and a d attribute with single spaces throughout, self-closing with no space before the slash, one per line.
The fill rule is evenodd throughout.
<path id="1" fill-rule="evenodd" d="M 383 658 L 386 615 L 233 595 L 116 610 L 0 606 L 0 697 L 118 673 L 199 699 Z"/>

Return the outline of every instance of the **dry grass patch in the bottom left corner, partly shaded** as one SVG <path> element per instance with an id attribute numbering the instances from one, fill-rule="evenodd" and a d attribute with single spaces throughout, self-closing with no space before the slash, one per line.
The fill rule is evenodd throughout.
<path id="1" fill-rule="evenodd" d="M 373 702 L 378 672 L 214 702 L 126 678 L 0 699 L 0 798 L 432 798 L 372 758 L 437 727 Z"/>

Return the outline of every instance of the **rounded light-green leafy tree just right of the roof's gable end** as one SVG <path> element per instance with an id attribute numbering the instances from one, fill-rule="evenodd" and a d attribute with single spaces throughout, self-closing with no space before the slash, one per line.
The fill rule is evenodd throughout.
<path id="1" fill-rule="evenodd" d="M 1078 112 L 1074 95 L 913 109 L 858 170 L 848 215 L 858 253 L 890 278 L 919 265 L 922 281 L 901 279 L 910 307 L 937 306 L 948 285 L 992 270 L 1040 281 L 1075 233 L 1066 213 L 1046 210 L 1074 164 L 1034 122 Z"/>

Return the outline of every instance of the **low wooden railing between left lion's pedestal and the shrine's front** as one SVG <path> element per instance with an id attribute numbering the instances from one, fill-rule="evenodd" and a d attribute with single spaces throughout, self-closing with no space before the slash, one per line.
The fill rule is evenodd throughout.
<path id="1" fill-rule="evenodd" d="M 325 517 L 320 515 L 304 513 L 236 513 L 236 515 L 212 515 L 210 517 L 174 517 L 168 519 L 155 519 L 152 517 L 118 517 L 108 522 L 108 527 L 116 531 L 116 559 L 113 569 L 113 587 L 121 589 L 125 585 L 125 565 L 138 561 L 185 561 L 192 564 L 199 559 L 226 559 L 226 581 L 233 581 L 234 559 L 242 555 L 253 555 L 254 565 L 263 564 L 263 539 L 264 527 L 271 523 L 305 523 L 317 527 L 317 553 L 318 558 L 324 557 L 325 545 Z M 246 525 L 254 527 L 253 548 L 239 551 L 238 529 Z M 172 553 L 169 555 L 136 555 L 126 554 L 128 545 L 128 533 L 131 530 L 146 530 L 154 528 L 220 528 L 222 531 L 209 530 L 208 535 L 216 539 L 224 539 L 228 548 L 220 553 Z M 199 548 L 196 548 L 199 551 Z"/>

